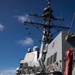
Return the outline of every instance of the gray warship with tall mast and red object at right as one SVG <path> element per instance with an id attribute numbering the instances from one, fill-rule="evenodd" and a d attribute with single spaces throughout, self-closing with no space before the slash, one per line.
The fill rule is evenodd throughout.
<path id="1" fill-rule="evenodd" d="M 43 14 L 29 14 L 41 18 L 45 23 L 24 21 L 24 24 L 31 24 L 39 30 L 43 27 L 40 48 L 33 47 L 33 51 L 28 48 L 24 59 L 20 61 L 20 66 L 16 69 L 16 75 L 74 75 L 75 74 L 75 33 L 72 32 L 75 14 L 69 27 L 55 25 L 53 21 L 64 21 L 62 17 L 53 16 L 50 0 L 48 6 L 44 8 Z M 53 38 L 51 29 L 59 34 Z M 62 31 L 64 30 L 64 31 Z M 67 30 L 67 31 L 65 31 Z M 35 34 L 36 35 L 36 34 Z"/>

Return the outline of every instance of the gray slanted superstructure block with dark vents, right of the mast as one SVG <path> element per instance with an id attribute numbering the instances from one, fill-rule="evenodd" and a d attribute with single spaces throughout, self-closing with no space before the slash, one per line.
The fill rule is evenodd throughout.
<path id="1" fill-rule="evenodd" d="M 75 40 L 73 38 L 66 40 L 67 34 L 67 32 L 60 32 L 48 45 L 45 65 L 49 71 L 64 71 L 65 52 L 69 48 L 75 48 Z"/>

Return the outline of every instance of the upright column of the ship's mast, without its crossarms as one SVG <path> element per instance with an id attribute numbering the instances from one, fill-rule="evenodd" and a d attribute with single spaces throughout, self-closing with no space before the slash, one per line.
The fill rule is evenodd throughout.
<path id="1" fill-rule="evenodd" d="M 43 29 L 43 37 L 42 37 L 40 55 L 38 60 L 42 69 L 45 69 L 45 65 L 43 63 L 45 60 L 44 54 L 46 54 L 47 52 L 47 50 L 45 50 L 45 46 L 49 44 L 52 39 L 52 34 L 50 32 L 50 22 L 51 22 L 51 16 L 52 16 L 52 9 L 50 8 L 50 0 L 48 0 L 48 7 L 44 8 L 44 14 L 42 16 L 45 18 L 46 26 L 44 26 L 44 29 Z"/>

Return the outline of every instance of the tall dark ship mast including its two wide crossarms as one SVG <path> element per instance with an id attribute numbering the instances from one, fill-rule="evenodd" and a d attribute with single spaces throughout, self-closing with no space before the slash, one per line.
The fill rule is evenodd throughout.
<path id="1" fill-rule="evenodd" d="M 41 41 L 40 54 L 39 54 L 39 58 L 38 58 L 38 61 L 39 61 L 42 69 L 45 68 L 44 56 L 47 53 L 47 51 L 44 48 L 52 41 L 52 33 L 51 33 L 50 29 L 51 28 L 69 29 L 69 27 L 57 26 L 57 25 L 51 24 L 52 20 L 55 21 L 55 20 L 64 20 L 64 19 L 63 18 L 55 18 L 53 16 L 53 14 L 52 14 L 53 10 L 51 9 L 51 6 L 50 6 L 50 0 L 47 0 L 47 1 L 48 1 L 48 6 L 46 8 L 44 8 L 42 15 L 37 15 L 36 13 L 29 14 L 30 16 L 36 16 L 38 18 L 42 18 L 45 21 L 45 24 L 36 23 L 36 22 L 32 22 L 32 21 L 30 21 L 30 22 L 24 21 L 24 24 L 32 24 L 36 28 L 39 28 L 39 26 L 43 27 L 43 36 L 42 36 L 42 41 Z"/>

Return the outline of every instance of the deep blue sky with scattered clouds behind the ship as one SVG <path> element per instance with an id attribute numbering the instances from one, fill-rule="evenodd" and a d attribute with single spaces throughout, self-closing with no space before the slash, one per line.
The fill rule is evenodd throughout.
<path id="1" fill-rule="evenodd" d="M 23 22 L 27 19 L 41 22 L 27 14 L 42 14 L 46 6 L 46 0 L 0 0 L 0 75 L 15 75 L 27 49 L 35 45 L 40 47 L 38 41 L 42 34 L 34 27 L 26 30 Z M 51 6 L 55 17 L 62 15 L 65 19 L 58 21 L 59 24 L 69 26 L 75 12 L 75 0 L 51 0 Z M 75 23 L 72 30 L 75 31 Z"/>

